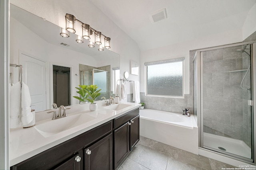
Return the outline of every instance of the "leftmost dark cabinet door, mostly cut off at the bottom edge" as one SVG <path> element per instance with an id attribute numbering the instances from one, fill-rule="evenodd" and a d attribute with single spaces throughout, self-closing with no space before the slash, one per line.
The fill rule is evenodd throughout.
<path id="1" fill-rule="evenodd" d="M 80 154 L 76 154 L 72 158 L 65 160 L 57 168 L 52 168 L 53 170 L 80 170 L 80 164 L 82 164 Z M 82 170 L 82 167 L 81 167 Z"/>

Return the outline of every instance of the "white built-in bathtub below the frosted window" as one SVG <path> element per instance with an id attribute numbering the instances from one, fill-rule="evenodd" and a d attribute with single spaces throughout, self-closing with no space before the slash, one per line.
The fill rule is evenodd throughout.
<path id="1" fill-rule="evenodd" d="M 194 115 L 140 109 L 140 135 L 198 154 L 198 127 Z"/>

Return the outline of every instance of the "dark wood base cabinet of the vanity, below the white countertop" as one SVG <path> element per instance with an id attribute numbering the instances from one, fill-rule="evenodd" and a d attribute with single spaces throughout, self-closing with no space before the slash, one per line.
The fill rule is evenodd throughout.
<path id="1" fill-rule="evenodd" d="M 10 167 L 10 170 L 115 170 L 140 137 L 139 109 Z"/>

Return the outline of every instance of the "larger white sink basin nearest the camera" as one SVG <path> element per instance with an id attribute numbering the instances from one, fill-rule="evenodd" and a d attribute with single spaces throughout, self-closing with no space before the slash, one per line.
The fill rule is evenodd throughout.
<path id="1" fill-rule="evenodd" d="M 76 114 L 68 115 L 67 117 L 62 117 L 55 120 L 47 121 L 39 125 L 35 125 L 36 130 L 41 133 L 44 137 L 50 137 L 56 133 L 66 131 L 88 121 L 96 119 L 90 115 L 86 114 Z"/>

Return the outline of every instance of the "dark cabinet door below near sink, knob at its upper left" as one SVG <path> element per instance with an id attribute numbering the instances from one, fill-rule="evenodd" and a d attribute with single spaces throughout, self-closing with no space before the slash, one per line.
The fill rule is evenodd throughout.
<path id="1" fill-rule="evenodd" d="M 112 133 L 84 150 L 85 170 L 113 170 Z"/>

